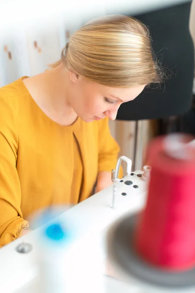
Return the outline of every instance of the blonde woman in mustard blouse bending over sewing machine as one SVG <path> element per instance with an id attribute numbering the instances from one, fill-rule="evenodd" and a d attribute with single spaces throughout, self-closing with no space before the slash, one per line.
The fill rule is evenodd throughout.
<path id="1" fill-rule="evenodd" d="M 33 212 L 112 183 L 108 119 L 159 82 L 147 28 L 125 16 L 84 25 L 51 67 L 0 89 L 0 246 L 30 229 Z"/>

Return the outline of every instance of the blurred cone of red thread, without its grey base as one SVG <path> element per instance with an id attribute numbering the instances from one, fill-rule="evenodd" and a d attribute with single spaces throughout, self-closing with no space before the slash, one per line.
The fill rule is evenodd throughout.
<path id="1" fill-rule="evenodd" d="M 146 262 L 167 271 L 195 267 L 195 147 L 188 144 L 193 138 L 181 135 L 174 156 L 164 136 L 148 149 L 151 176 L 135 246 Z"/>

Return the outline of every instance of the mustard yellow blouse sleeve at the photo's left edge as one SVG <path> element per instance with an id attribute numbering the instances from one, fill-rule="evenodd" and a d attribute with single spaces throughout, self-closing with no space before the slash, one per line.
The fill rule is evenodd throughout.
<path id="1" fill-rule="evenodd" d="M 20 209 L 20 180 L 16 168 L 18 135 L 14 111 L 0 98 L 0 247 L 18 238 L 29 224 Z"/>

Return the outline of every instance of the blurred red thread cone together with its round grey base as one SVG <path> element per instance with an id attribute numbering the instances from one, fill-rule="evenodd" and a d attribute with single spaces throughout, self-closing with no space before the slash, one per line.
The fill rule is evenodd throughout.
<path id="1" fill-rule="evenodd" d="M 188 290 L 195 285 L 194 137 L 158 137 L 147 155 L 151 176 L 146 207 L 117 225 L 113 257 L 126 273 L 170 290 Z"/>

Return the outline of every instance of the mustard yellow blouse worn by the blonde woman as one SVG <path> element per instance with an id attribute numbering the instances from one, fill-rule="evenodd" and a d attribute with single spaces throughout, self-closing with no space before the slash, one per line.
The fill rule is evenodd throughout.
<path id="1" fill-rule="evenodd" d="M 35 211 L 88 198 L 119 151 L 107 118 L 61 126 L 35 103 L 23 78 L 0 88 L 0 247 L 29 228 Z"/>

